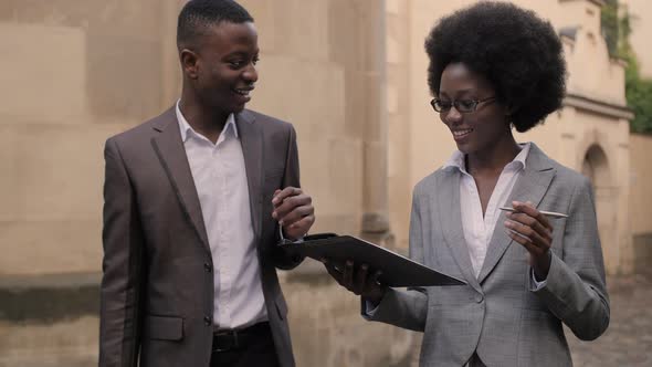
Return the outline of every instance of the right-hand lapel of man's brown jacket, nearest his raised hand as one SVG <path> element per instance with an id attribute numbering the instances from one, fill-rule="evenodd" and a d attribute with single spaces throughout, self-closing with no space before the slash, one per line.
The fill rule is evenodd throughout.
<path id="1" fill-rule="evenodd" d="M 263 214 L 263 135 L 255 124 L 255 117 L 246 109 L 235 115 L 235 125 L 238 126 L 242 154 L 244 156 L 251 221 L 254 234 L 260 239 L 262 235 L 261 226 Z"/>

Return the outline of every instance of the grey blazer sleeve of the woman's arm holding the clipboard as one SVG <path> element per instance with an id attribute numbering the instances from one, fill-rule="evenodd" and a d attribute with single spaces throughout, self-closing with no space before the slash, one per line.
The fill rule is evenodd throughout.
<path id="1" fill-rule="evenodd" d="M 418 190 L 416 189 L 412 197 L 412 212 L 410 214 L 410 259 L 419 263 L 424 263 L 422 233 Z M 402 291 L 388 287 L 372 315 L 367 315 L 366 300 L 364 297 L 360 298 L 362 316 L 367 319 L 391 324 L 416 332 L 423 332 L 425 329 L 428 294 L 423 289 L 408 289 L 407 291 Z"/>

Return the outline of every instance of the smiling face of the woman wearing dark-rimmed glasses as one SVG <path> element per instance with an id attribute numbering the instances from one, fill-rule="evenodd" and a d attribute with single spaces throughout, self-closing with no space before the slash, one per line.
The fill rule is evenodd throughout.
<path id="1" fill-rule="evenodd" d="M 508 109 L 495 97 L 491 83 L 464 64 L 451 63 L 444 69 L 435 99 L 440 118 L 451 129 L 460 151 L 490 153 L 512 135 Z"/>

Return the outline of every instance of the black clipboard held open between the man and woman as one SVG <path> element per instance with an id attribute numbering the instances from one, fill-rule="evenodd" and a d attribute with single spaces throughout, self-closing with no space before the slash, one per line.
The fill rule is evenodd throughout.
<path id="1" fill-rule="evenodd" d="M 382 284 L 401 286 L 463 285 L 466 282 L 442 274 L 401 254 L 353 235 L 335 233 L 312 234 L 303 242 L 285 242 L 282 248 L 291 254 L 298 254 L 320 261 L 326 258 L 336 269 L 343 269 L 347 260 L 355 264 L 368 264 L 369 270 L 380 270 L 378 281 Z"/>

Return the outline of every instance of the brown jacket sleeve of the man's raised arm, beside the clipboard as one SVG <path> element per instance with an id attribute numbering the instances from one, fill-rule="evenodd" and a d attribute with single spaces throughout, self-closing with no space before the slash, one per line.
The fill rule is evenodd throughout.
<path id="1" fill-rule="evenodd" d="M 283 172 L 283 188 L 292 186 L 292 187 L 301 187 L 299 180 L 299 168 L 298 168 L 298 149 L 296 146 L 296 132 L 291 124 L 287 124 L 287 146 L 285 149 L 285 170 Z M 276 226 L 277 231 L 278 226 Z M 275 235 L 277 241 L 281 241 L 281 235 L 276 233 Z M 274 265 L 278 269 L 283 270 L 292 270 L 298 266 L 303 261 L 304 256 L 301 255 L 291 255 L 286 253 L 283 249 L 275 245 L 274 251 L 272 252 Z"/>

